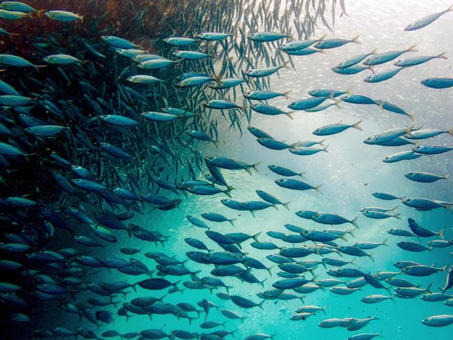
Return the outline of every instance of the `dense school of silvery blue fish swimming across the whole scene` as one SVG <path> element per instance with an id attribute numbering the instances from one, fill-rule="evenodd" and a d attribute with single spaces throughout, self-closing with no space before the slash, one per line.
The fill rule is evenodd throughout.
<path id="1" fill-rule="evenodd" d="M 28 55 L 15 51 L 14 32 L 0 29 L 7 39 L 3 47 L 8 49 L 0 54 L 0 302 L 8 323 L 23 333 L 17 339 L 223 339 L 235 337 L 239 323 L 249 322 L 247 309 L 264 313 L 267 304 L 273 303 L 268 300 L 300 302 L 290 317 L 295 322 L 309 323 L 313 315 L 325 314 L 318 323 L 320 334 L 325 328 L 345 327 L 354 332 L 348 339 L 372 339 L 380 333 L 362 329 L 371 327 L 378 316 L 359 311 L 351 311 L 353 316 L 331 315 L 326 306 L 306 302 L 318 289 L 325 294 L 357 295 L 367 285 L 374 293 L 358 299 L 364 304 L 385 300 L 404 304 L 406 299 L 421 298 L 453 306 L 452 265 L 399 260 L 394 272 L 372 273 L 355 265 L 356 258 L 374 261 L 380 256 L 375 249 L 390 246 L 387 240 L 351 240 L 360 226 L 357 220 L 363 218 L 359 212 L 341 216 L 322 207 L 298 210 L 258 188 L 250 188 L 255 200 L 235 200 L 235 186 L 241 183 L 230 183 L 223 175 L 232 170 L 253 175 L 267 166 L 279 177 L 274 183 L 268 179 L 269 187 L 313 195 L 322 194 L 322 183 L 267 160 L 249 163 L 203 151 L 206 144 L 218 145 L 219 126 L 229 124 L 241 135 L 251 133 L 267 149 L 288 150 L 296 156 L 327 152 L 328 138 L 362 131 L 361 121 L 332 122 L 313 131 L 319 136 L 316 140 L 287 142 L 254 127 L 253 117 L 284 114 L 297 119 L 300 111 L 321 112 L 343 105 L 377 105 L 408 118 L 410 125 L 364 140 L 366 145 L 410 148 L 387 156 L 385 163 L 453 150 L 424 144 L 428 138 L 452 135 L 452 130 L 416 126 L 410 112 L 382 98 L 356 94 L 352 87 L 313 89 L 297 100 L 290 98 L 289 90 L 272 91 L 269 76 L 295 68 L 292 58 L 339 47 L 346 50 L 345 45 L 360 43 L 359 36 L 312 38 L 317 22 L 330 29 L 327 6 L 332 8 L 332 24 L 337 2 L 341 15 L 347 15 L 344 2 L 183 2 L 186 6 L 181 4 L 173 13 L 181 28 L 174 27 L 173 34 L 162 32 L 165 36 L 156 37 L 149 49 L 143 37 L 128 40 L 101 27 L 91 36 L 72 35 L 71 27 L 82 24 L 90 13 L 42 10 L 17 1 L 0 3 L 2 27 L 4 22 L 31 16 L 62 25 L 61 31 L 35 38 L 34 52 Z M 417 20 L 406 31 L 422 29 L 451 10 Z M 332 71 L 352 75 L 369 70 L 372 75 L 364 81 L 382 82 L 404 68 L 447 59 L 444 52 L 394 62 L 406 52 L 415 52 L 415 46 L 346 58 Z M 396 68 L 376 71 L 375 66 L 390 62 Z M 453 80 L 428 78 L 422 84 L 445 89 L 453 87 Z M 290 99 L 287 108 L 272 105 L 277 97 Z M 419 183 L 449 178 L 429 172 L 403 175 Z M 190 195 L 218 195 L 225 207 L 223 211 L 202 207 L 200 215 L 185 216 L 191 228 L 200 230 L 200 237 L 184 239 L 193 251 L 171 253 L 166 248 L 170 231 L 157 230 L 152 219 L 146 226 L 134 221 L 138 215 L 151 216 L 154 209 L 178 211 Z M 453 205 L 398 193 L 372 195 L 380 202 L 398 201 L 422 212 L 451 211 Z M 272 226 L 247 231 L 231 218 L 233 212 L 255 216 L 263 209 L 278 213 L 282 208 L 319 228 L 282 221 L 287 232 L 273 231 Z M 421 226 L 396 209 L 363 207 L 360 213 L 368 219 L 407 220 L 407 228 L 387 232 L 390 238 L 401 239 L 396 246 L 409 258 L 410 252 L 453 246 L 453 239 L 445 239 L 446 230 Z M 221 232 L 218 223 L 228 225 L 230 232 Z M 242 249 L 245 244 L 262 256 L 249 256 Z M 445 276 L 440 289 L 429 281 L 437 273 Z M 119 275 L 127 275 L 128 280 L 115 279 Z M 411 282 L 415 276 L 426 278 L 426 284 Z M 237 287 L 253 284 L 262 287 L 253 299 L 237 293 Z M 128 297 L 131 292 L 136 293 L 132 298 Z M 193 292 L 200 295 L 196 305 L 185 300 Z M 178 295 L 179 302 L 168 302 L 169 295 Z M 234 307 L 226 308 L 219 301 Z M 213 318 L 213 309 L 223 318 Z M 53 316 L 64 313 L 78 324 L 65 327 L 56 317 L 35 327 L 37 313 L 45 311 Z M 174 316 L 175 324 L 165 325 L 168 330 L 164 330 L 153 321 L 156 314 Z M 140 330 L 116 330 L 116 318 L 133 316 L 143 318 Z M 176 323 L 181 319 L 187 322 Z M 443 327 L 453 323 L 453 315 L 427 316 L 421 322 Z M 21 330 L 22 325 L 28 326 Z M 245 339 L 279 339 L 279 334 L 249 334 Z"/>

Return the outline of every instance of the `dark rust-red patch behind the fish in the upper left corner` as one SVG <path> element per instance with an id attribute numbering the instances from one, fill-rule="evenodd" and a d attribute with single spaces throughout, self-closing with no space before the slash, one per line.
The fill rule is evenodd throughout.
<path id="1" fill-rule="evenodd" d="M 0 52 L 22 57 L 33 54 L 34 43 L 53 39 L 64 45 L 70 36 L 98 38 L 115 35 L 135 43 L 154 38 L 165 27 L 166 18 L 181 0 L 47 0 L 24 1 L 36 10 L 68 10 L 83 16 L 83 21 L 58 22 L 43 13 L 32 13 L 21 20 L 2 20 L 0 27 L 13 36 L 0 36 Z M 144 47 L 147 47 L 147 42 Z M 12 48 L 13 47 L 13 48 Z M 148 46 L 149 47 L 149 46 Z"/>

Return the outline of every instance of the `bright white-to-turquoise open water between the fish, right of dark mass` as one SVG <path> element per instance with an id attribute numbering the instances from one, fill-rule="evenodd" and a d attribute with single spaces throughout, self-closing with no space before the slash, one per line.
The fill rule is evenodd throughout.
<path id="1" fill-rule="evenodd" d="M 310 57 L 295 57 L 294 70 L 282 70 L 279 76 L 272 76 L 272 89 L 274 91 L 291 90 L 291 99 L 276 99 L 272 103 L 280 108 L 284 108 L 290 101 L 304 98 L 306 92 L 311 89 L 348 89 L 353 86 L 354 94 L 363 94 L 371 98 L 389 101 L 410 112 L 415 116 L 416 127 L 424 128 L 443 128 L 453 127 L 453 90 L 429 89 L 420 84 L 420 80 L 427 77 L 451 77 L 453 60 L 453 13 L 447 13 L 440 17 L 434 24 L 414 32 L 405 32 L 403 28 L 409 22 L 419 17 L 424 17 L 438 10 L 443 10 L 451 5 L 451 0 L 420 1 L 420 0 L 366 0 L 366 1 L 346 1 L 348 16 L 336 17 L 334 26 L 334 36 L 339 38 L 352 38 L 360 35 L 359 40 L 362 45 L 348 44 L 335 50 L 329 50 L 327 55 L 314 54 Z M 316 29 L 315 36 L 319 37 L 331 33 L 325 27 L 320 26 Z M 339 62 L 352 57 L 356 54 L 369 52 L 378 48 L 379 52 L 388 50 L 403 50 L 411 45 L 417 45 L 419 52 L 417 55 L 440 54 L 447 51 L 447 60 L 435 59 L 421 66 L 408 68 L 401 71 L 391 80 L 378 84 L 368 84 L 363 82 L 363 78 L 369 75 L 364 71 L 358 75 L 337 75 L 330 68 Z M 409 54 L 406 54 L 409 56 Z M 415 55 L 415 54 L 414 54 Z M 376 71 L 390 68 L 389 65 L 378 66 Z M 216 114 L 215 112 L 213 114 Z M 348 235 L 348 243 L 358 241 L 382 242 L 388 239 L 388 246 L 380 246 L 371 251 L 376 262 L 369 258 L 357 258 L 355 265 L 364 272 L 378 271 L 398 271 L 392 264 L 397 260 L 413 260 L 426 265 L 436 263 L 436 266 L 451 265 L 452 256 L 449 255 L 451 248 L 433 249 L 432 252 L 410 253 L 403 251 L 396 246 L 396 242 L 403 240 L 387 234 L 390 228 L 407 228 L 407 219 L 412 217 L 420 225 L 431 230 L 445 228 L 445 239 L 453 237 L 453 214 L 447 209 L 434 209 L 431 212 L 417 212 L 415 209 L 402 205 L 399 201 L 380 201 L 373 198 L 371 193 L 381 191 L 394 195 L 406 197 L 424 197 L 433 200 L 451 201 L 453 198 L 452 181 L 439 181 L 433 184 L 421 184 L 411 182 L 404 177 L 410 171 L 426 171 L 438 174 L 453 172 L 452 153 L 426 156 L 413 161 L 403 161 L 400 163 L 383 163 L 383 158 L 397 151 L 410 149 L 410 147 L 377 147 L 365 145 L 363 140 L 371 135 L 381 133 L 388 128 L 401 127 L 411 124 L 406 116 L 392 114 L 381 110 L 376 105 L 350 105 L 342 103 L 341 108 L 335 106 L 324 112 L 304 113 L 295 112 L 294 120 L 288 119 L 284 115 L 278 117 L 267 117 L 254 114 L 252 125 L 266 131 L 277 140 L 297 142 L 298 140 L 319 140 L 311 135 L 311 131 L 320 126 L 334 123 L 355 123 L 362 120 L 363 131 L 349 129 L 338 135 L 330 136 L 328 153 L 320 152 L 313 156 L 297 156 L 288 151 L 272 151 L 265 149 L 255 141 L 253 135 L 246 131 L 246 121 L 244 119 L 244 135 L 239 132 L 230 131 L 229 121 L 221 124 L 219 134 L 218 149 L 214 145 L 199 145 L 199 149 L 205 156 L 225 156 L 235 160 L 245 161 L 246 163 L 261 162 L 258 167 L 259 172 L 248 175 L 244 171 L 223 171 L 227 182 L 235 187 L 232 192 L 233 199 L 259 200 L 255 194 L 256 189 L 261 189 L 272 193 L 282 202 L 290 201 L 290 211 L 279 207 L 279 210 L 266 209 L 256 212 L 255 218 L 248 212 L 237 212 L 224 207 L 220 200 L 225 198 L 223 195 L 197 196 L 189 195 L 184 199 L 179 209 L 170 212 L 160 212 L 148 209 L 144 214 L 137 214 L 131 223 L 136 223 L 144 228 L 159 230 L 164 235 L 170 235 L 170 239 L 164 246 L 153 246 L 147 244 L 140 258 L 143 258 L 149 267 L 154 263 L 142 255 L 147 251 L 165 251 L 170 256 L 183 260 L 186 258 L 186 251 L 193 250 L 184 242 L 185 237 L 195 237 L 201 239 L 210 249 L 218 247 L 208 239 L 205 230 L 196 228 L 186 220 L 186 215 L 191 214 L 200 217 L 202 212 L 219 212 L 235 218 L 235 226 L 230 223 L 209 222 L 209 226 L 218 232 L 227 233 L 242 231 L 248 234 L 262 232 L 260 241 L 274 241 L 283 244 L 279 240 L 271 239 L 266 235 L 269 230 L 286 232 L 283 225 L 292 223 L 304 228 L 315 228 L 322 230 L 322 226 L 309 220 L 300 219 L 295 215 L 299 209 L 309 209 L 318 212 L 329 212 L 346 216 L 349 219 L 359 216 L 357 223 L 359 229 L 354 231 L 355 239 Z M 222 119 L 219 120 L 221 122 Z M 423 141 L 425 142 L 425 141 Z M 441 135 L 433 140 L 426 140 L 429 145 L 452 145 L 451 135 Z M 278 164 L 293 170 L 306 172 L 306 182 L 313 185 L 322 184 L 322 195 L 315 191 L 289 191 L 282 189 L 274 184 L 274 180 L 279 176 L 267 169 L 269 164 Z M 165 192 L 172 198 L 176 198 L 172 193 Z M 393 207 L 399 205 L 398 212 L 401 214 L 399 219 L 374 220 L 367 219 L 359 209 L 370 206 Z M 415 241 L 415 239 L 414 239 Z M 423 239 L 422 242 L 426 242 Z M 263 251 L 249 246 L 250 241 L 244 242 L 243 251 L 249 256 L 262 260 L 267 266 L 274 265 L 265 259 L 268 254 L 276 251 Z M 116 256 L 119 248 L 124 246 L 137 246 L 141 248 L 142 242 L 137 239 L 120 238 L 117 246 L 109 246 L 103 254 L 105 256 Z M 115 248 L 117 247 L 117 248 Z M 138 257 L 138 256 L 135 256 Z M 336 257 L 336 256 L 335 256 Z M 318 258 L 318 256 L 309 256 Z M 350 258 L 345 256 L 345 258 Z M 189 261 L 186 266 L 192 270 L 201 269 L 200 277 L 206 276 L 211 270 L 211 266 L 198 265 Z M 260 280 L 265 281 L 265 288 L 259 285 L 242 283 L 239 279 L 224 278 L 228 286 L 233 286 L 230 293 L 248 297 L 255 302 L 260 298 L 256 293 L 265 289 L 271 289 L 272 283 L 276 281 L 277 267 L 272 269 L 272 277 L 266 271 L 255 270 L 253 273 Z M 320 267 L 316 270 L 318 279 L 325 279 L 329 276 Z M 410 277 L 410 281 L 422 287 L 432 283 L 433 291 L 439 291 L 445 283 L 445 272 L 433 274 L 424 278 Z M 110 276 L 103 272 L 100 279 L 109 279 L 133 282 L 133 276 L 126 276 L 117 271 Z M 188 276 L 177 278 L 170 277 L 170 281 L 182 279 L 188 280 Z M 180 285 L 182 287 L 182 285 Z M 220 289 L 222 291 L 222 289 Z M 164 295 L 165 291 L 154 292 L 145 291 L 138 287 L 138 293 L 129 293 L 127 301 L 142 295 Z M 290 316 L 295 309 L 302 306 L 299 300 L 289 302 L 279 300 L 269 300 L 264 304 L 264 310 L 259 308 L 241 309 L 232 302 L 218 299 L 209 290 L 183 290 L 182 293 L 174 293 L 165 297 L 165 302 L 176 304 L 178 302 L 196 302 L 206 298 L 214 304 L 223 308 L 232 309 L 246 316 L 244 323 L 240 320 L 228 320 L 225 325 L 226 330 L 237 330 L 236 339 L 244 339 L 248 335 L 258 332 L 266 334 L 276 334 L 274 339 L 347 339 L 352 334 L 360 332 L 381 332 L 386 339 L 453 339 L 453 328 L 432 328 L 426 327 L 421 320 L 432 315 L 442 313 L 453 313 L 453 307 L 445 306 L 443 302 L 424 302 L 419 297 L 409 300 L 396 298 L 394 304 L 388 300 L 378 304 L 364 304 L 360 299 L 373 293 L 385 293 L 378 291 L 371 286 L 365 286 L 362 290 L 348 296 L 334 295 L 326 290 L 317 290 L 306 295 L 304 304 L 315 304 L 317 306 L 327 306 L 327 315 L 317 313 L 310 316 L 307 320 L 292 321 Z M 453 292 L 450 292 L 453 293 Z M 203 316 L 203 314 L 202 314 Z M 349 332 L 345 328 L 336 327 L 323 329 L 318 323 L 325 318 L 365 318 L 378 316 L 379 320 L 373 320 L 369 325 L 357 332 Z M 68 326 L 76 323 L 77 316 L 66 317 Z M 192 325 L 186 319 L 177 320 L 174 316 L 154 315 L 152 320 L 148 316 L 132 316 L 126 322 L 124 317 L 117 317 L 112 325 L 101 326 L 98 334 L 112 328 L 124 334 L 126 332 L 140 332 L 147 328 L 162 328 L 165 332 L 171 330 L 190 330 L 191 332 L 203 332 L 198 325 L 204 318 L 194 320 Z M 225 321 L 225 317 L 214 309 L 209 311 L 208 320 Z M 82 321 L 87 323 L 86 320 Z M 91 327 L 87 323 L 87 327 Z"/>

